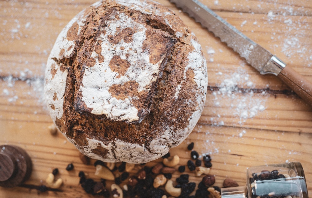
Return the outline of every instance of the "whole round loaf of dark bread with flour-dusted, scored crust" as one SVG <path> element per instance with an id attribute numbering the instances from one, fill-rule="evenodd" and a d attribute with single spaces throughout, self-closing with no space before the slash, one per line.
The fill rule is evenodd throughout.
<path id="1" fill-rule="evenodd" d="M 106 162 L 165 155 L 193 130 L 207 92 L 196 37 L 148 0 L 100 1 L 80 12 L 58 36 L 45 78 L 56 126 Z"/>

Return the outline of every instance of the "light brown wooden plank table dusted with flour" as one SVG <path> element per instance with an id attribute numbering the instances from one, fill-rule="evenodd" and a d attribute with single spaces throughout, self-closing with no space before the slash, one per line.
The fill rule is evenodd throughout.
<path id="1" fill-rule="evenodd" d="M 64 180 L 60 192 L 39 195 L 34 189 L 0 187 L 0 197 L 92 197 L 79 185 L 78 172 L 98 179 L 95 168 L 80 161 L 79 152 L 64 136 L 49 133 L 52 121 L 42 89 L 44 67 L 57 35 L 93 2 L 0 1 L 0 145 L 17 145 L 29 153 L 33 172 L 26 184 L 44 184 L 54 168 Z M 186 147 L 194 142 L 200 155 L 212 156 L 210 173 L 220 187 L 226 177 L 244 185 L 251 166 L 300 161 L 312 196 L 312 108 L 274 76 L 256 72 L 174 4 L 158 2 L 176 12 L 198 37 L 209 76 L 202 116 L 171 155 L 178 154 L 185 165 L 190 159 Z M 202 2 L 312 81 L 310 0 Z M 70 162 L 75 168 L 66 171 Z M 200 180 L 191 176 L 191 181 Z"/>

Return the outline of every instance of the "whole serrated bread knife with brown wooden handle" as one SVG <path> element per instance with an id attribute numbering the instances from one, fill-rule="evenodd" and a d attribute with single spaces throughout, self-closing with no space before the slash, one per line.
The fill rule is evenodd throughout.
<path id="1" fill-rule="evenodd" d="M 291 67 L 286 67 L 278 57 L 253 42 L 243 33 L 218 16 L 215 12 L 197 0 L 169 0 L 183 12 L 188 13 L 202 27 L 208 29 L 228 47 L 232 48 L 246 62 L 261 74 L 273 74 L 279 77 L 306 103 L 312 106 L 312 83 Z"/>

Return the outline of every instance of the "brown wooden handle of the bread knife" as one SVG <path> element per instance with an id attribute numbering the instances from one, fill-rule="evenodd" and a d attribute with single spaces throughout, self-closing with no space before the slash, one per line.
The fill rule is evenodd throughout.
<path id="1" fill-rule="evenodd" d="M 285 67 L 277 76 L 285 82 L 306 103 L 312 106 L 312 83 L 291 67 Z"/>

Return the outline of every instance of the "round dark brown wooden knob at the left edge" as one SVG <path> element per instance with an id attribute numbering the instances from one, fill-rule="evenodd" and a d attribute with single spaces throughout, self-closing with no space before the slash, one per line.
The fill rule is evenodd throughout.
<path id="1" fill-rule="evenodd" d="M 22 148 L 0 146 L 0 186 L 14 187 L 26 181 L 32 173 L 32 161 Z"/>

